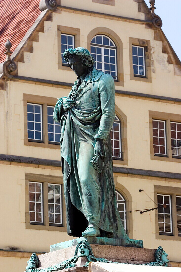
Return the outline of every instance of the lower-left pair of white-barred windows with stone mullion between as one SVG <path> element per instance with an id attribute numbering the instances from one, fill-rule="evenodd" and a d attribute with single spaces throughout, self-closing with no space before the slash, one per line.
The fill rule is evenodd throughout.
<path id="1" fill-rule="evenodd" d="M 34 176 L 33 174 L 27 175 Z M 55 180 L 56 178 L 53 177 L 52 181 L 54 182 Z M 35 225 L 39 225 L 39 229 L 48 229 L 49 227 L 56 229 L 56 227 L 63 227 L 62 184 L 49 183 L 48 177 L 46 176 L 44 181 L 40 182 L 28 180 L 27 185 L 29 188 L 28 228 L 32 228 L 30 225 L 34 225 L 35 229 Z"/>

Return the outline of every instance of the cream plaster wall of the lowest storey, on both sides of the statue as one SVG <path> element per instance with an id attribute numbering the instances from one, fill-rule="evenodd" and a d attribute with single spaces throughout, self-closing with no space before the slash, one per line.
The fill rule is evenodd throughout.
<path id="1" fill-rule="evenodd" d="M 25 227 L 25 173 L 62 176 L 62 172 L 52 169 L 40 169 L 27 166 L 0 164 L 1 196 L 4 203 L 1 224 L 1 248 L 16 246 L 22 251 L 49 252 L 49 246 L 58 242 L 71 240 L 65 232 L 31 230 Z M 132 210 L 153 208 L 154 203 L 139 189 L 144 189 L 154 199 L 154 184 L 180 187 L 180 183 L 139 179 L 134 177 L 117 177 L 117 184 L 124 186 L 132 196 Z M 116 187 L 118 187 L 116 184 Z M 10 196 L 10 197 L 8 197 Z M 129 211 L 128 211 L 129 212 Z M 144 248 L 163 246 L 171 261 L 180 261 L 181 241 L 155 239 L 155 212 L 140 214 L 133 212 L 133 239 L 144 241 Z M 146 227 L 145 227 L 146 226 Z M 45 239 L 46 237 L 46 239 Z M 174 248 L 177 247 L 177 251 Z M 10 260 L 10 259 L 9 259 Z M 24 267 L 25 268 L 25 267 Z M 23 271 L 23 270 L 22 270 Z"/>

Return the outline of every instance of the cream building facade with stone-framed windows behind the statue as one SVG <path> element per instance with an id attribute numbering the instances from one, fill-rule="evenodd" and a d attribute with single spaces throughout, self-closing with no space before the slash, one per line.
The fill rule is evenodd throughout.
<path id="1" fill-rule="evenodd" d="M 66 232 L 60 125 L 52 113 L 76 80 L 62 53 L 80 46 L 115 81 L 111 139 L 123 226 L 144 248 L 163 246 L 179 266 L 181 63 L 154 4 L 149 10 L 142 0 L 57 0 L 56 7 L 41 2 L 40 11 L 39 0 L 26 2 L 17 8 L 25 21 L 9 23 L 0 49 L 1 267 L 24 271 L 32 252 L 73 239 Z"/>

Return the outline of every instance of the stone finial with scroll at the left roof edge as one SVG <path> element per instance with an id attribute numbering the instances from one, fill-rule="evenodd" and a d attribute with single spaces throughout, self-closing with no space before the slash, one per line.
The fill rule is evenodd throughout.
<path id="1" fill-rule="evenodd" d="M 11 60 L 11 53 L 12 53 L 10 50 L 11 46 L 12 46 L 11 42 L 7 40 L 5 43 L 6 60 L 0 65 L 0 74 L 4 73 L 4 75 L 7 76 L 8 78 L 12 78 L 13 75 L 11 75 L 10 73 L 17 69 L 15 62 Z"/>

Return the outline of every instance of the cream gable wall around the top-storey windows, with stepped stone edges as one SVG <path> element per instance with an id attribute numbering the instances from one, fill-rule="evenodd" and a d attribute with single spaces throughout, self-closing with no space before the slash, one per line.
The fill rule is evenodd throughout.
<path id="1" fill-rule="evenodd" d="M 24 52 L 24 63 L 18 63 L 18 75 L 73 83 L 76 76 L 71 70 L 58 70 L 57 25 L 74 27 L 75 22 L 80 28 L 80 44 L 83 47 L 87 47 L 89 32 L 99 26 L 113 30 L 122 40 L 124 87 L 116 86 L 116 89 L 181 98 L 181 76 L 174 75 L 173 64 L 168 64 L 167 54 L 162 53 L 162 42 L 154 40 L 154 30 L 141 24 L 65 11 L 53 13 L 52 22 L 45 21 L 45 33 L 40 32 L 39 42 L 33 42 L 33 53 Z M 129 37 L 151 41 L 152 83 L 130 80 Z"/>

